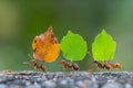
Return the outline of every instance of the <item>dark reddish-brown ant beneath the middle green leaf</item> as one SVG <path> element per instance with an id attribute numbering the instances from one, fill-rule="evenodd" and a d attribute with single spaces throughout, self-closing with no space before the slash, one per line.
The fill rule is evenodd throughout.
<path id="1" fill-rule="evenodd" d="M 60 64 L 63 64 L 63 68 L 73 68 L 74 70 L 80 69 L 78 64 L 75 64 L 75 63 L 70 64 L 69 62 L 65 62 L 64 59 L 60 61 Z"/>

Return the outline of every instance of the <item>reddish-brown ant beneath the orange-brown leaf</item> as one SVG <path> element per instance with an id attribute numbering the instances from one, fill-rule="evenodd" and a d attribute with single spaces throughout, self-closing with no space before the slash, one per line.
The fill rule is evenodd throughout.
<path id="1" fill-rule="evenodd" d="M 32 58 L 30 55 L 28 55 L 30 58 Z M 31 65 L 31 66 L 33 66 L 34 68 L 37 68 L 37 69 L 41 69 L 42 72 L 47 72 L 47 67 L 45 66 L 43 66 L 42 64 L 41 65 L 39 65 L 38 64 L 38 62 L 33 58 L 33 59 L 31 59 L 30 62 L 29 62 L 29 64 Z M 29 68 L 29 66 L 28 66 L 28 68 Z"/>

